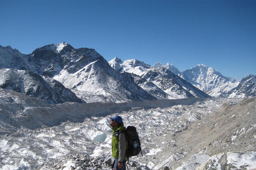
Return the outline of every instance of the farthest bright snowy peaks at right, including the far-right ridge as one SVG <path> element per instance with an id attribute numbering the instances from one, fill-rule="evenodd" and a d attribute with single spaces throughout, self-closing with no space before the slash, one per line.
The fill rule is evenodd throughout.
<path id="1" fill-rule="evenodd" d="M 243 98 L 256 96 L 255 75 L 249 75 L 240 82 L 236 82 L 235 79 L 225 77 L 219 71 L 203 64 L 182 72 L 169 63 L 166 65 L 156 63 L 154 67 L 167 68 L 212 97 Z"/>

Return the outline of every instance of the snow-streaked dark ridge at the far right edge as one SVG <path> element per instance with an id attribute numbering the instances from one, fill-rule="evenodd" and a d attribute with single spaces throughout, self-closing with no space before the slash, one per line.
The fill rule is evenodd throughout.
<path id="1" fill-rule="evenodd" d="M 213 97 L 255 97 L 256 96 L 256 76 L 250 74 L 240 82 L 219 86 L 207 92 Z"/>

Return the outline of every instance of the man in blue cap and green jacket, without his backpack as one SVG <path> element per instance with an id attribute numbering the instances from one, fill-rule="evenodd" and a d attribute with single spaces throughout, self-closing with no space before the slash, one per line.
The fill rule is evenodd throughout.
<path id="1" fill-rule="evenodd" d="M 110 126 L 112 126 L 112 155 L 114 160 L 114 170 L 125 170 L 127 161 L 126 155 L 126 139 L 125 127 L 123 126 L 123 119 L 120 116 L 110 117 Z"/>

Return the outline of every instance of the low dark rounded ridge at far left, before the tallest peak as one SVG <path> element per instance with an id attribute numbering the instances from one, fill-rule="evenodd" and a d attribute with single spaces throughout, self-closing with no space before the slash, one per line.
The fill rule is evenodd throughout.
<path id="1" fill-rule="evenodd" d="M 0 87 L 43 99 L 50 104 L 83 102 L 58 81 L 32 71 L 0 69 Z"/>

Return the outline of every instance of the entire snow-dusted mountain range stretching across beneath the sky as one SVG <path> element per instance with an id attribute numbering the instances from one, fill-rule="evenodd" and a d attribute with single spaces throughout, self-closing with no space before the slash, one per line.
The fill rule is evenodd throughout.
<path id="1" fill-rule="evenodd" d="M 45 45 L 31 54 L 0 45 L 0 69 L 1 88 L 50 104 L 255 96 L 254 86 L 249 84 L 255 82 L 254 75 L 250 81 L 244 80 L 245 85 L 202 64 L 181 72 L 170 63 L 152 67 L 117 57 L 107 62 L 94 49 L 75 49 L 65 42 Z"/>

